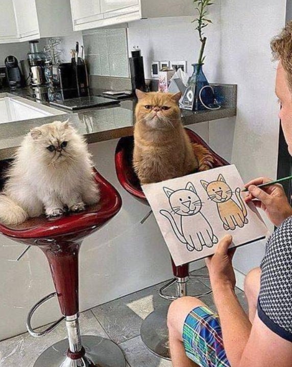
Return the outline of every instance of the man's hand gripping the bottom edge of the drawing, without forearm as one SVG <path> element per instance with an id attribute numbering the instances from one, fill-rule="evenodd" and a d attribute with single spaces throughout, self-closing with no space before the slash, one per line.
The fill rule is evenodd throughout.
<path id="1" fill-rule="evenodd" d="M 228 250 L 231 243 L 232 236 L 226 235 L 218 243 L 215 254 L 205 259 L 213 290 L 221 286 L 228 286 L 234 290 L 236 280 L 232 267 L 232 258 L 235 248 Z"/>

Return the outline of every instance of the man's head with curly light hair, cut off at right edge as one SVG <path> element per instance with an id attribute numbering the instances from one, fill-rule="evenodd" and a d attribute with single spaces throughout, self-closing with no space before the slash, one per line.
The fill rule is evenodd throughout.
<path id="1" fill-rule="evenodd" d="M 276 95 L 281 103 L 279 118 L 290 155 L 292 155 L 292 21 L 271 42 L 275 59 L 279 60 Z"/>

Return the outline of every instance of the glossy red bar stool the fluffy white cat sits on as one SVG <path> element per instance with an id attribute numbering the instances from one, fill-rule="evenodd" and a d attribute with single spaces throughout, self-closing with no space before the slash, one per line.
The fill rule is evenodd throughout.
<path id="1" fill-rule="evenodd" d="M 0 189 L 3 173 L 9 161 L 0 162 Z M 52 331 L 65 320 L 68 339 L 55 343 L 36 360 L 34 367 L 125 367 L 120 348 L 111 340 L 93 335 L 80 335 L 78 299 L 78 254 L 82 240 L 99 230 L 121 208 L 121 198 L 110 183 L 94 169 L 95 182 L 99 184 L 101 200 L 86 211 L 47 219 L 31 218 L 17 226 L 0 224 L 0 233 L 21 243 L 38 246 L 50 265 L 56 292 L 40 300 L 29 312 L 27 328 L 38 337 Z M 57 296 L 61 317 L 42 332 L 31 326 L 36 309 L 48 299 Z"/>

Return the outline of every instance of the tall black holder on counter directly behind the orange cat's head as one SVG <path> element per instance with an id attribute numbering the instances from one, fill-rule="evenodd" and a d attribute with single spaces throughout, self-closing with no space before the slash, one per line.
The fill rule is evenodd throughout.
<path id="1" fill-rule="evenodd" d="M 130 57 L 129 61 L 133 93 L 135 93 L 135 89 L 148 91 L 145 83 L 143 56 L 141 56 L 141 50 L 134 48 L 131 53 L 132 57 Z"/>

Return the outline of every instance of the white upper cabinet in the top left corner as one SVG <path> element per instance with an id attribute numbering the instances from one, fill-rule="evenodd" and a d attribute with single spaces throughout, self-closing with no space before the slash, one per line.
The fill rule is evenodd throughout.
<path id="1" fill-rule="evenodd" d="M 0 43 L 68 36 L 70 14 L 70 0 L 1 0 Z"/>

